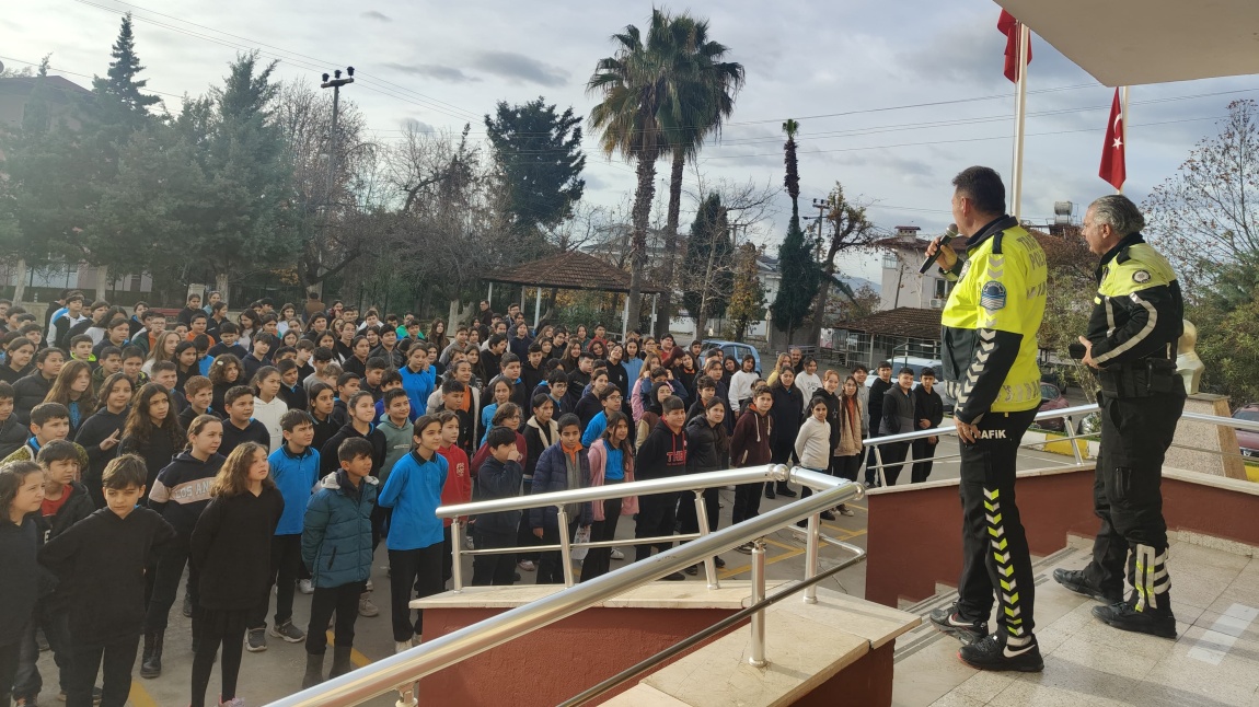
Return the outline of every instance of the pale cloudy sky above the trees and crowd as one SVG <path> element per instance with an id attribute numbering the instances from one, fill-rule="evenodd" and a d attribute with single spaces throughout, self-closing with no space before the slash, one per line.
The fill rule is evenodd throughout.
<path id="1" fill-rule="evenodd" d="M 840 181 L 871 204 L 878 225 L 938 231 L 949 221 L 948 182 L 958 170 L 990 165 L 1008 182 L 1013 84 L 1001 73 L 1005 38 L 990 0 L 725 0 L 671 9 L 709 18 L 711 38 L 747 68 L 729 126 L 701 152 L 703 179 L 781 184 L 781 125 L 791 117 L 801 122 L 805 205 Z M 585 81 L 613 52 L 609 35 L 643 26 L 651 4 L 40 0 L 0 16 L 0 60 L 21 68 L 52 53 L 54 73 L 87 84 L 86 75 L 104 73 L 127 10 L 149 87 L 166 94 L 171 109 L 179 96 L 218 83 L 237 52 L 258 48 L 281 59 L 283 78 L 317 82 L 325 70 L 354 65 L 359 82 L 342 98 L 388 141 L 408 121 L 452 130 L 471 121 L 480 138 L 481 116 L 497 101 L 543 96 L 587 114 L 594 101 Z M 1097 170 L 1112 89 L 1032 42 L 1024 216 L 1046 220 L 1055 201 L 1074 201 L 1083 215 L 1083 204 L 1109 191 Z M 1216 132 L 1230 101 L 1246 97 L 1259 97 L 1259 78 L 1134 88 L 1127 192 L 1144 198 Z M 587 198 L 621 203 L 633 190 L 632 167 L 603 157 L 589 136 L 587 148 Z M 667 164 L 660 167 L 667 176 Z M 687 184 L 695 189 L 694 171 Z M 779 240 L 786 211 L 783 195 L 778 218 L 755 238 Z M 876 272 L 875 260 L 850 263 L 851 274 Z"/>

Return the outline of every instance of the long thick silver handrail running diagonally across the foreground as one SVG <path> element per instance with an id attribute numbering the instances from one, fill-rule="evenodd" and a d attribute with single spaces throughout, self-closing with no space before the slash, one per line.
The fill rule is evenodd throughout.
<path id="1" fill-rule="evenodd" d="M 710 472 L 714 474 L 721 472 Z M 818 526 L 818 513 L 840 503 L 862 497 L 865 489 L 847 479 L 835 478 L 808 469 L 786 467 L 774 473 L 801 483 L 817 493 L 768 511 L 742 523 L 711 532 L 666 552 L 632 562 L 590 581 L 517 606 L 471 626 L 462 628 L 422 645 L 390 655 L 370 665 L 330 679 L 271 703 L 272 707 L 339 707 L 356 704 L 373 697 L 400 689 L 419 678 L 507 643 L 525 633 L 546 626 L 573 614 L 606 601 L 643 582 L 680 571 L 733 546 L 760 538 L 801 518 L 810 518 L 810 527 Z M 701 474 L 696 474 L 701 476 Z M 637 483 L 637 482 L 636 482 Z M 646 483 L 646 482 L 645 482 Z M 630 484 L 618 484 L 621 489 Z M 585 489 L 582 489 L 585 491 Z M 578 492 L 572 492 L 578 493 Z M 471 504 L 467 504 L 471 506 Z M 811 533 L 817 536 L 816 531 Z M 861 551 L 865 556 L 865 551 Z M 815 572 L 813 576 L 817 576 Z M 409 689 L 409 687 L 407 688 Z M 404 704 L 399 702 L 399 704 Z M 413 704 L 413 702 L 412 702 Z"/>

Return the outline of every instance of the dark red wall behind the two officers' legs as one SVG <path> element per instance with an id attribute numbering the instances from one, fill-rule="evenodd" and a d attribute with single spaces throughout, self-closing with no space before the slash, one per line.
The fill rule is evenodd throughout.
<path id="1" fill-rule="evenodd" d="M 1019 477 L 1016 501 L 1032 555 L 1066 547 L 1068 533 L 1092 537 L 1093 470 Z M 870 601 L 896 606 L 957 585 L 962 570 L 962 503 L 957 484 L 871 493 L 866 559 Z M 1200 532 L 1259 546 L 1255 496 L 1200 483 L 1163 479 L 1170 530 Z"/>

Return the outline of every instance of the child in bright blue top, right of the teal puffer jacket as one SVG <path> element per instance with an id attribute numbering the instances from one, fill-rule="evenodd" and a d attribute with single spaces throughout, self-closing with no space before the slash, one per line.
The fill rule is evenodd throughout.
<path id="1" fill-rule="evenodd" d="M 415 420 L 412 430 L 415 448 L 399 459 L 376 501 L 393 508 L 389 536 L 389 577 L 393 604 L 394 652 L 402 653 L 419 645 L 424 625 L 421 611 L 410 620 L 412 587 L 421 596 L 444 589 L 442 581 L 442 504 L 446 483 L 446 458 L 437 453 L 442 445 L 442 423 L 437 415 Z"/>

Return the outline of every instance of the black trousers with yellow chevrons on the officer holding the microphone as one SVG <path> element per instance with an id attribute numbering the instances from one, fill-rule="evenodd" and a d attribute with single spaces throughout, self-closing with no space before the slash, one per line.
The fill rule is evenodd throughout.
<path id="1" fill-rule="evenodd" d="M 1002 643 L 1031 640 L 1031 556 L 1015 503 L 1019 443 L 1036 410 L 988 413 L 980 420 L 981 438 L 962 444 L 962 577 L 957 610 L 966 620 L 987 620 L 997 603 L 997 634 Z"/>

